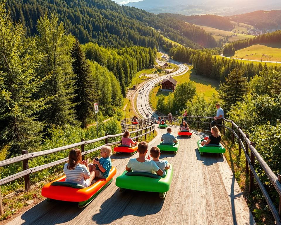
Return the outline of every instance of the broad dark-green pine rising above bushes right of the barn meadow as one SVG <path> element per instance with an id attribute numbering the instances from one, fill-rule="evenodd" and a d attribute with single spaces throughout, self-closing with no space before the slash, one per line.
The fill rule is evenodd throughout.
<path id="1" fill-rule="evenodd" d="M 225 83 L 220 84 L 219 96 L 225 101 L 226 109 L 243 99 L 243 95 L 248 91 L 247 78 L 244 77 L 244 69 L 234 68 Z"/>

